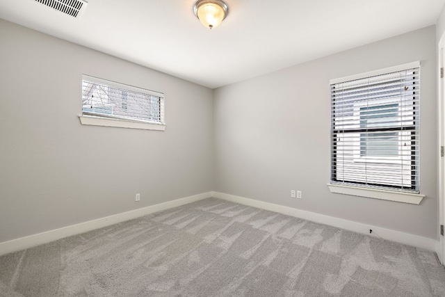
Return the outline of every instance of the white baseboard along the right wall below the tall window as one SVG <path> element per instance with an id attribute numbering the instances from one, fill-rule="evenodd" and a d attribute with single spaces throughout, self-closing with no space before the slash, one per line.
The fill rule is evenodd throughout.
<path id="1" fill-rule="evenodd" d="M 409 233 L 399 232 L 396 230 L 385 229 L 382 227 L 375 227 L 363 223 L 357 223 L 352 220 L 343 220 L 342 218 L 334 218 L 333 216 L 325 216 L 324 214 L 316 214 L 311 211 L 305 211 L 301 209 L 295 209 L 292 207 L 284 207 L 282 205 L 273 204 L 269 202 L 263 202 L 250 198 L 244 198 L 236 195 L 230 195 L 226 193 L 213 192 L 213 197 L 237 202 L 248 205 L 250 207 L 257 207 L 260 209 L 266 209 L 269 211 L 275 211 L 280 214 L 286 214 L 288 216 L 295 216 L 297 218 L 303 218 L 305 220 L 311 220 L 312 222 L 330 225 L 338 227 L 344 230 L 349 230 L 357 233 L 366 234 L 369 236 L 381 237 L 389 241 L 395 241 L 403 243 L 408 246 L 415 246 L 416 248 L 423 248 L 432 252 L 437 251 L 438 241 L 429 239 L 426 237 L 413 235 Z M 369 234 L 369 230 L 373 230 L 373 234 Z"/>

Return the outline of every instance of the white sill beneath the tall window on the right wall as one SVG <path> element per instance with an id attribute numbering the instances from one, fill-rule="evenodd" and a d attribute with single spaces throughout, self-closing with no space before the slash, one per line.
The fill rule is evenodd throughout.
<path id="1" fill-rule="evenodd" d="M 343 186 L 340 184 L 327 184 L 331 193 L 353 195 L 366 198 L 382 199 L 410 204 L 420 204 L 425 195 L 385 191 L 376 188 L 361 188 L 358 186 Z"/>

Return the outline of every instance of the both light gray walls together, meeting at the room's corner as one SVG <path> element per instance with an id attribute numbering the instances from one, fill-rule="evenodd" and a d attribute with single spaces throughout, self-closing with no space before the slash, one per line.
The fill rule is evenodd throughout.
<path id="1" fill-rule="evenodd" d="M 437 31 L 213 93 L 0 20 L 0 242 L 211 190 L 437 239 L 435 34 L 445 30 L 443 15 Z M 427 197 L 411 205 L 330 193 L 329 80 L 417 60 Z M 165 93 L 167 129 L 82 126 L 81 74 Z M 291 189 L 302 200 L 289 198 Z"/>

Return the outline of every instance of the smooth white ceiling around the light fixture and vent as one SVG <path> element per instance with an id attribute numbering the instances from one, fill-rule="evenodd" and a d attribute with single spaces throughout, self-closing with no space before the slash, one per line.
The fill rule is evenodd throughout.
<path id="1" fill-rule="evenodd" d="M 226 0 L 229 15 L 209 30 L 195 0 L 87 1 L 75 19 L 35 0 L 0 0 L 0 18 L 218 88 L 430 26 L 445 3 Z"/>

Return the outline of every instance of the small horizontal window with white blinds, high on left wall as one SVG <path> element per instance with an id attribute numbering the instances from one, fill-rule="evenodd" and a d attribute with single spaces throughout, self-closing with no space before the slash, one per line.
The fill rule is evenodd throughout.
<path id="1" fill-rule="evenodd" d="M 82 115 L 163 124 L 163 106 L 162 93 L 82 76 Z"/>

